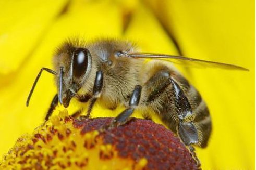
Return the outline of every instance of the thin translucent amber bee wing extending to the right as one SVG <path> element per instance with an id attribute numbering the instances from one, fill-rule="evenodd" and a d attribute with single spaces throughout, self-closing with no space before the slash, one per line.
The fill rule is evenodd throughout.
<path id="1" fill-rule="evenodd" d="M 221 69 L 249 71 L 249 69 L 247 69 L 247 68 L 243 68 L 243 67 L 236 66 L 233 64 L 214 62 L 214 61 L 206 61 L 206 60 L 194 59 L 194 58 L 189 58 L 189 57 L 184 57 L 184 56 L 152 54 L 152 53 L 132 53 L 132 54 L 129 54 L 129 57 L 154 58 L 154 59 L 161 59 L 161 60 L 167 60 L 167 61 L 174 60 L 172 62 L 177 63 L 177 64 L 185 64 L 186 66 L 196 64 L 197 66 L 201 66 L 201 67 L 216 67 L 216 68 L 221 68 Z"/>

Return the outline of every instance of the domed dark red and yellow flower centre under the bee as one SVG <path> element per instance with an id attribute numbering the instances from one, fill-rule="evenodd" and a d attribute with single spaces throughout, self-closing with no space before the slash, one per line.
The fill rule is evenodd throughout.
<path id="1" fill-rule="evenodd" d="M 74 119 L 67 110 L 20 137 L 1 169 L 198 169 L 170 130 L 133 119 L 104 129 L 109 118 Z M 136 132 L 136 133 L 135 133 Z"/>

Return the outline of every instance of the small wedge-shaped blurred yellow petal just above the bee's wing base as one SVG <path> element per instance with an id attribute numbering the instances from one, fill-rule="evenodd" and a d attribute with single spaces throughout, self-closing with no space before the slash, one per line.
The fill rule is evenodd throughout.
<path id="1" fill-rule="evenodd" d="M 174 43 L 169 39 L 162 25 L 152 11 L 143 4 L 138 4 L 133 11 L 125 37 L 136 42 L 141 51 L 177 54 Z"/>

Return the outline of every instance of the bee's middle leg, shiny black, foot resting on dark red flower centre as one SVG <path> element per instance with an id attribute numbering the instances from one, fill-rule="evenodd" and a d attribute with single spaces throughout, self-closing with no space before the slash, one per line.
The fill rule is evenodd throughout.
<path id="1" fill-rule="evenodd" d="M 132 95 L 130 97 L 129 101 L 129 107 L 121 112 L 108 127 L 115 127 L 122 124 L 125 124 L 130 115 L 133 113 L 133 111 L 136 109 L 136 107 L 139 105 L 140 102 L 140 96 L 141 96 L 141 89 L 142 87 L 140 85 L 135 86 L 135 89 L 132 92 Z"/>

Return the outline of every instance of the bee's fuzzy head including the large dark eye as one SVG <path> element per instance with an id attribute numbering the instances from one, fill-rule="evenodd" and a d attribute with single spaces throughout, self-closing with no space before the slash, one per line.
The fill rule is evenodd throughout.
<path id="1" fill-rule="evenodd" d="M 58 99 L 64 107 L 69 106 L 72 97 L 86 81 L 92 66 L 91 53 L 87 48 L 64 45 L 55 56 Z"/>

